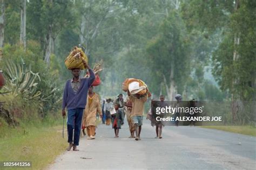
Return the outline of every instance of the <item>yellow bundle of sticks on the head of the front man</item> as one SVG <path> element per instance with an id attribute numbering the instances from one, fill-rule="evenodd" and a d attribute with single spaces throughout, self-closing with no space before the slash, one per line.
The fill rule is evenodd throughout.
<path id="1" fill-rule="evenodd" d="M 88 58 L 82 48 L 74 47 L 65 59 L 65 65 L 68 69 L 79 68 L 85 69 L 83 60 L 88 63 Z"/>

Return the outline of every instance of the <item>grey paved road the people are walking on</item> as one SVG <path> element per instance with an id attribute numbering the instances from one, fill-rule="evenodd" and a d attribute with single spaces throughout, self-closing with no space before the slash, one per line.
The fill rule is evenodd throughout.
<path id="1" fill-rule="evenodd" d="M 165 126 L 154 139 L 144 119 L 142 140 L 119 138 L 110 126 L 99 125 L 95 140 L 81 138 L 79 152 L 60 155 L 49 169 L 256 169 L 256 138 L 190 126 Z"/>

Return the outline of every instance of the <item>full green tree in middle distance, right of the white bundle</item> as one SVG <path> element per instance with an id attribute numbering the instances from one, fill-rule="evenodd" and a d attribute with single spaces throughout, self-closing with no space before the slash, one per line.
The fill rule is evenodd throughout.
<path id="1" fill-rule="evenodd" d="M 164 80 L 169 100 L 174 100 L 176 93 L 183 92 L 186 77 L 190 74 L 189 48 L 182 25 L 179 14 L 175 11 L 170 13 L 160 26 L 159 35 L 147 47 L 151 63 Z"/>

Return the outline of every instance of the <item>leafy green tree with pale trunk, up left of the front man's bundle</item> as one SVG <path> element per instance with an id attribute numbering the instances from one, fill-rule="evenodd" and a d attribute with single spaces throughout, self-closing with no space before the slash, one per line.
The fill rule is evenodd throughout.
<path id="1" fill-rule="evenodd" d="M 36 30 L 33 39 L 40 39 L 44 50 L 44 61 L 50 65 L 50 55 L 55 52 L 55 40 L 63 27 L 75 22 L 71 12 L 71 1 L 31 1 L 28 3 L 29 24 Z"/>

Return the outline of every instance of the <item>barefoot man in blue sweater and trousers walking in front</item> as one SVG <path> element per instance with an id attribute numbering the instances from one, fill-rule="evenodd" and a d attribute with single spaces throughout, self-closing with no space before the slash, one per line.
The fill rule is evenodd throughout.
<path id="1" fill-rule="evenodd" d="M 79 145 L 80 129 L 83 117 L 83 111 L 87 102 L 87 93 L 89 87 L 95 80 L 95 74 L 92 69 L 83 62 L 85 68 L 89 69 L 89 78 L 79 78 L 80 69 L 73 68 L 73 79 L 66 81 L 63 101 L 62 101 L 62 116 L 65 117 L 65 108 L 68 109 L 68 151 L 73 147 L 73 151 L 79 151 L 77 146 Z M 74 134 L 73 134 L 74 131 Z"/>

